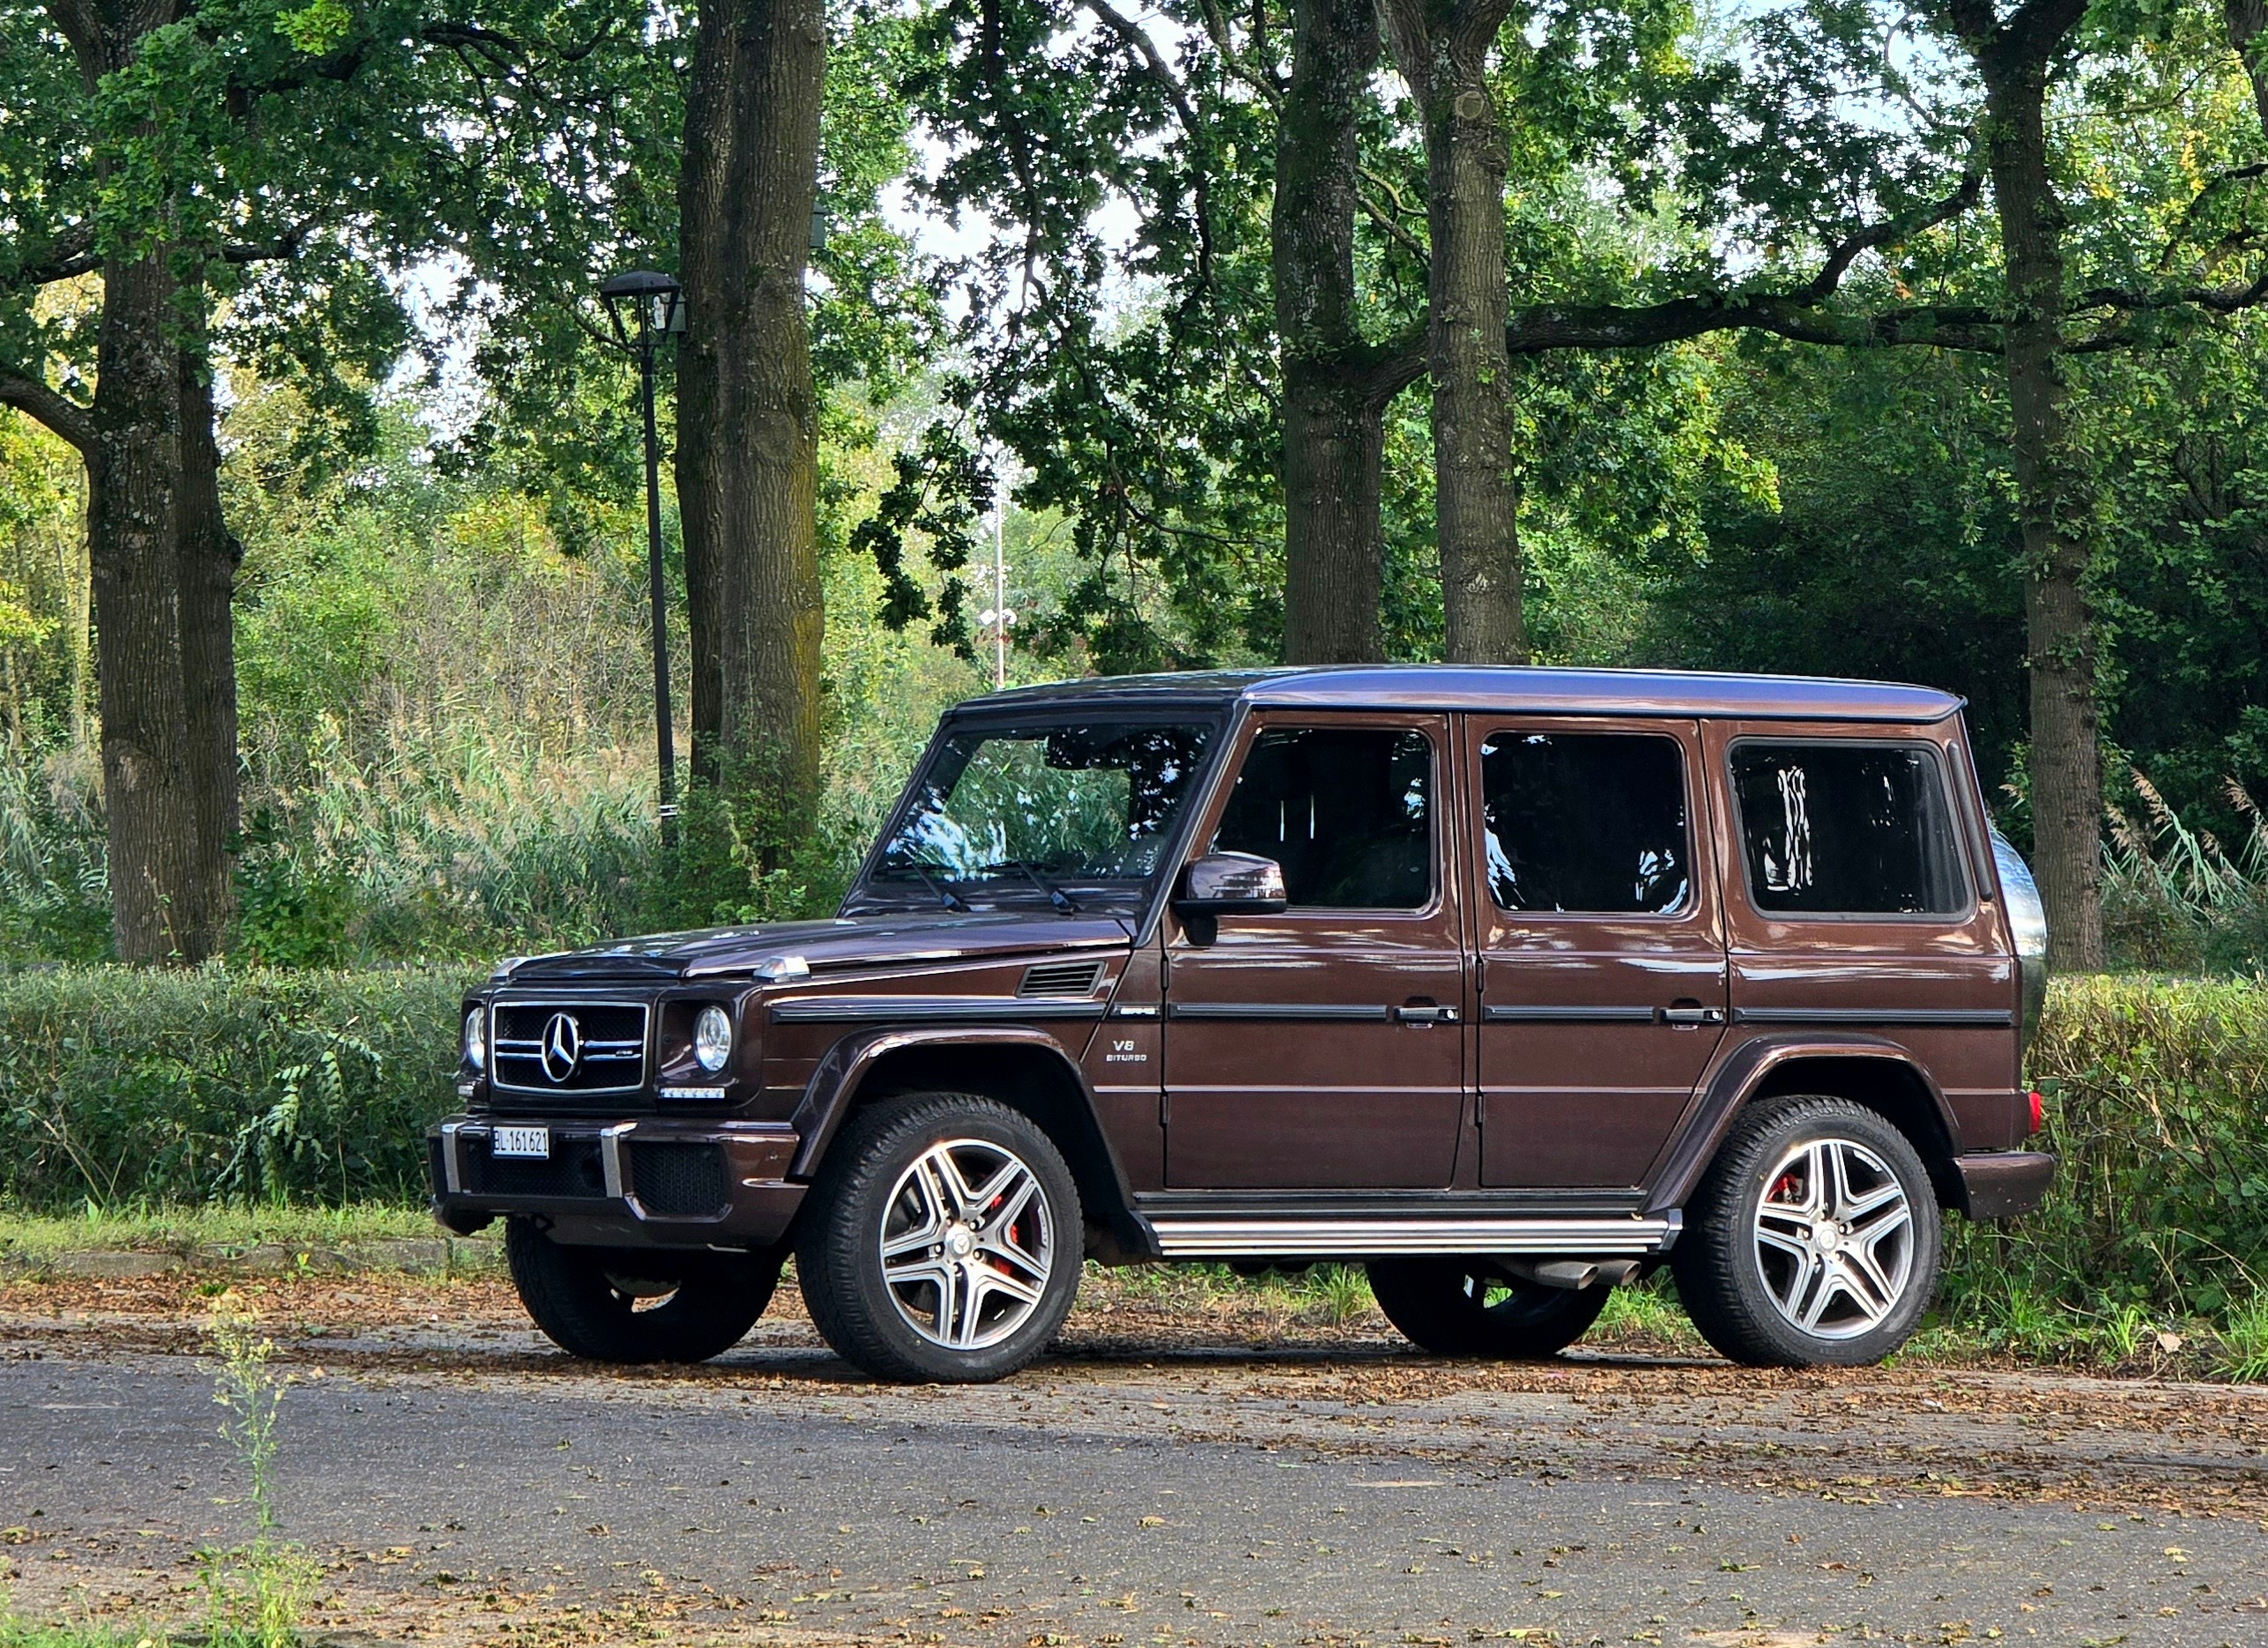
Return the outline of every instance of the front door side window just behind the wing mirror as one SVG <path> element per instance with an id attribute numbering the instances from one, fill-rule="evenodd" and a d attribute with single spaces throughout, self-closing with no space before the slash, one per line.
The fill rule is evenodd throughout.
<path id="1" fill-rule="evenodd" d="M 1270 726 L 1213 833 L 1284 865 L 1293 908 L 1422 910 L 1433 897 L 1433 745 L 1388 726 Z"/>

